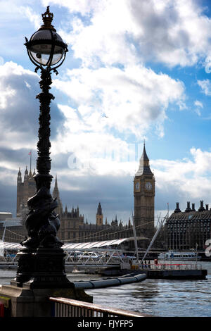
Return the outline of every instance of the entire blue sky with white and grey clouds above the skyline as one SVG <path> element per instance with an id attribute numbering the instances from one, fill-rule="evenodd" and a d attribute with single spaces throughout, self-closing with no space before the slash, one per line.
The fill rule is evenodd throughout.
<path id="1" fill-rule="evenodd" d="M 63 206 L 127 221 L 146 141 L 155 218 L 211 206 L 209 0 L 0 1 L 0 211 L 15 216 L 18 168 L 37 158 L 39 72 L 25 37 L 50 6 L 69 52 L 51 92 L 51 174 Z M 54 186 L 54 180 L 52 187 Z"/>

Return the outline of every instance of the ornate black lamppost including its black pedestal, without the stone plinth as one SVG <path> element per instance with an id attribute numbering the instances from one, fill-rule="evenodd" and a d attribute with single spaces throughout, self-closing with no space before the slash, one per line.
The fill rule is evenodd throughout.
<path id="1" fill-rule="evenodd" d="M 21 242 L 24 246 L 18 252 L 18 270 L 12 285 L 30 288 L 71 287 L 64 268 L 64 252 L 60 247 L 63 243 L 57 237 L 60 220 L 53 211 L 58 201 L 51 196 L 50 175 L 50 103 L 54 96 L 49 93 L 51 71 L 65 60 L 68 46 L 63 42 L 56 29 L 51 25 L 53 13 L 49 6 L 42 14 L 44 24 L 35 32 L 30 40 L 26 39 L 25 46 L 30 60 L 36 65 L 35 72 L 41 70 L 41 93 L 36 98 L 40 101 L 39 141 L 37 143 L 37 194 L 27 201 L 30 212 L 25 226 L 28 237 Z"/>

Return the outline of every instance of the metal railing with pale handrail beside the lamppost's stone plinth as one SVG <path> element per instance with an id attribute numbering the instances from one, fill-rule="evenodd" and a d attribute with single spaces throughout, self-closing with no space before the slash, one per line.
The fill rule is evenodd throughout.
<path id="1" fill-rule="evenodd" d="M 144 313 L 106 308 L 89 302 L 66 298 L 49 298 L 52 317 L 149 317 Z"/>

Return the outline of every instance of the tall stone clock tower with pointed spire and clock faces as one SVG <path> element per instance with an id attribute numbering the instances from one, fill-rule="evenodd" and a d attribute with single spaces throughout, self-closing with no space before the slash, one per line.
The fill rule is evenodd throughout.
<path id="1" fill-rule="evenodd" d="M 136 235 L 151 239 L 154 234 L 155 178 L 149 166 L 145 143 L 134 177 L 134 223 Z"/>

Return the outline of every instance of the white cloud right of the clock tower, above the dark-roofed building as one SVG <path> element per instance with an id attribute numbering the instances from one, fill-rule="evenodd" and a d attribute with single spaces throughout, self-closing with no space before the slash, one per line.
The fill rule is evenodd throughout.
<path id="1" fill-rule="evenodd" d="M 207 199 L 211 194 L 211 152 L 192 148 L 190 158 L 178 161 L 153 160 L 156 185 L 165 196 L 174 192 L 174 199 Z"/>

